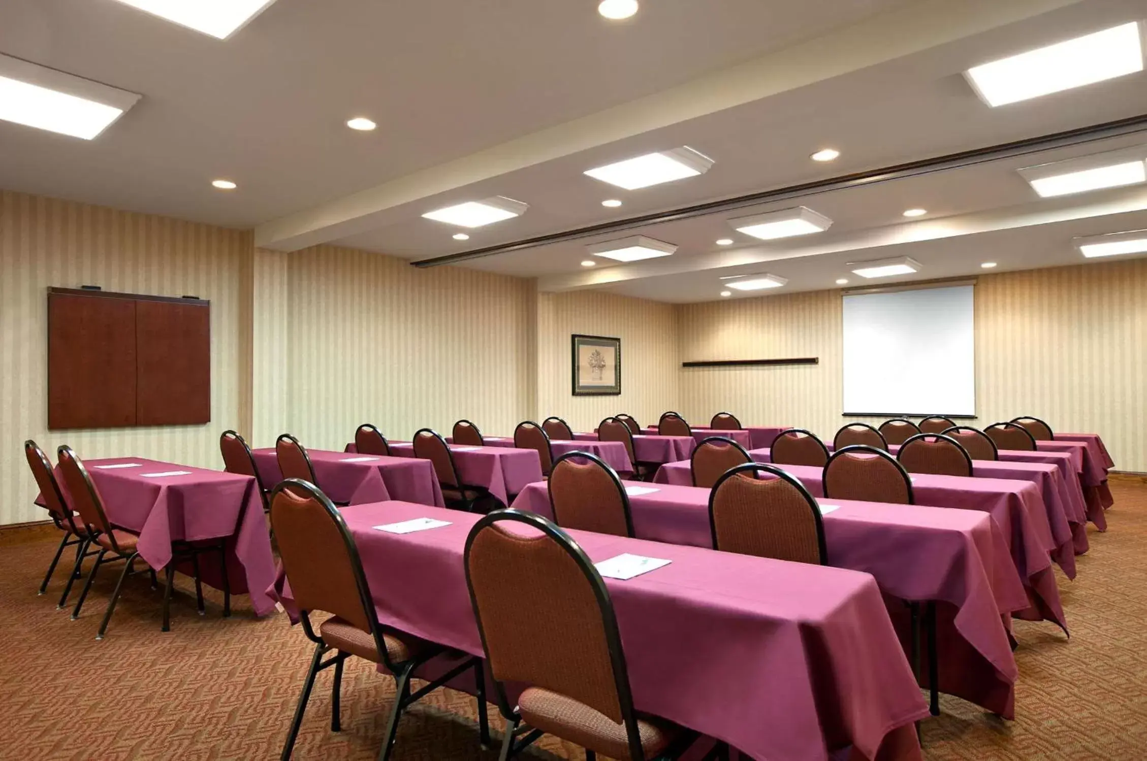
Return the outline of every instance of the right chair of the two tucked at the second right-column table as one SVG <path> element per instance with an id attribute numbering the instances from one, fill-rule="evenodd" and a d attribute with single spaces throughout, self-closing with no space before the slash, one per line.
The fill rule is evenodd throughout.
<path id="1" fill-rule="evenodd" d="M 780 468 L 747 463 L 726 471 L 709 493 L 709 526 L 713 549 L 723 552 L 828 564 L 820 508 Z"/>

